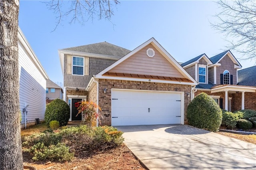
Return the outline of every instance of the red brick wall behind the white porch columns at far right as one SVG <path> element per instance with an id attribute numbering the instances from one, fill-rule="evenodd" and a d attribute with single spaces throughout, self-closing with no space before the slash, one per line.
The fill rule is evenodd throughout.
<path id="1" fill-rule="evenodd" d="M 237 111 L 242 108 L 242 93 L 232 94 L 232 111 Z M 256 93 L 244 93 L 244 109 L 256 110 Z"/>

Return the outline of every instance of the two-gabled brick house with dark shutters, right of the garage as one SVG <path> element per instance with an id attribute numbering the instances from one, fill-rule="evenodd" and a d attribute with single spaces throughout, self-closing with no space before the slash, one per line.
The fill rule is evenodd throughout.
<path id="1" fill-rule="evenodd" d="M 192 87 L 192 99 L 204 92 L 227 111 L 256 109 L 256 69 L 238 71 L 242 66 L 229 50 L 211 58 L 202 54 L 181 65 L 199 83 Z"/>

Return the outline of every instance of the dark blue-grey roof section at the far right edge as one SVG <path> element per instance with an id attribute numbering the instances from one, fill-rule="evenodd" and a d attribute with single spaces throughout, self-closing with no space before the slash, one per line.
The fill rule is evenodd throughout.
<path id="1" fill-rule="evenodd" d="M 256 86 L 256 66 L 238 70 L 238 85 Z"/>

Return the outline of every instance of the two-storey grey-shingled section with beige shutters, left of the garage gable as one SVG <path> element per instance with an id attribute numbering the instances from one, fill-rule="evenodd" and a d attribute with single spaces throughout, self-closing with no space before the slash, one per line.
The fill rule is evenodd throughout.
<path id="1" fill-rule="evenodd" d="M 69 121 L 81 121 L 81 115 L 74 103 L 86 100 L 88 85 L 95 75 L 129 53 L 128 49 L 108 42 L 94 43 L 79 47 L 59 49 L 60 63 L 64 77 L 63 100 L 70 105 Z"/>

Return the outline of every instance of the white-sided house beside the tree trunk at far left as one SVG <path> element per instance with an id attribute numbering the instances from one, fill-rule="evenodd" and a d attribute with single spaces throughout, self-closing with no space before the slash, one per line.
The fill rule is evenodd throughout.
<path id="1" fill-rule="evenodd" d="M 25 127 L 34 125 L 36 118 L 44 120 L 46 79 L 49 77 L 20 28 L 18 28 L 18 60 L 21 123 L 22 127 Z"/>

